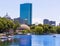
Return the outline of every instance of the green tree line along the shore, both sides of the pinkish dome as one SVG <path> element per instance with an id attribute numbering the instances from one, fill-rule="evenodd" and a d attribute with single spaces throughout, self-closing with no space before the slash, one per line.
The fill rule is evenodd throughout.
<path id="1" fill-rule="evenodd" d="M 0 17 L 0 33 L 7 32 L 10 29 L 16 33 L 16 29 L 20 27 L 18 22 L 14 22 L 13 20 L 7 18 Z M 24 30 L 22 33 L 27 34 L 60 34 L 60 26 L 51 26 L 51 25 L 42 25 L 42 24 L 32 24 L 30 26 L 30 31 Z"/>

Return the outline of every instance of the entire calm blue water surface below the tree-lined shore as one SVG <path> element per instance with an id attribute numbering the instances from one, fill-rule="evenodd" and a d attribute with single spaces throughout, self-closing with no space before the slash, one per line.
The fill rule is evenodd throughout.
<path id="1" fill-rule="evenodd" d="M 60 46 L 60 35 L 15 35 L 0 46 Z"/>

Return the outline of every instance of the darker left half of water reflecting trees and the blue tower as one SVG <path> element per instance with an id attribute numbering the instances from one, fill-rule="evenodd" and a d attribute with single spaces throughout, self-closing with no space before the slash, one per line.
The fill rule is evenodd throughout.
<path id="1" fill-rule="evenodd" d="M 13 38 L 0 39 L 0 46 L 31 46 L 30 35 L 17 35 Z"/>

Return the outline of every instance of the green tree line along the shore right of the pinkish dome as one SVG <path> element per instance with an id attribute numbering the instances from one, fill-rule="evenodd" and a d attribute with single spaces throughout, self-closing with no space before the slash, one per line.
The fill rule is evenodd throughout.
<path id="1" fill-rule="evenodd" d="M 31 26 L 32 34 L 60 34 L 60 26 L 51 26 L 51 25 L 32 25 Z"/>

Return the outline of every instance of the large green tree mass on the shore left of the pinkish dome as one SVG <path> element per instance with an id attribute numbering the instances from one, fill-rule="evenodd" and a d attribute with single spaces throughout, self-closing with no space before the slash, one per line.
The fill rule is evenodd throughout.
<path id="1" fill-rule="evenodd" d="M 19 24 L 14 23 L 13 20 L 6 19 L 6 18 L 0 18 L 0 33 L 1 32 L 8 32 L 10 29 L 17 29 L 19 27 Z"/>

